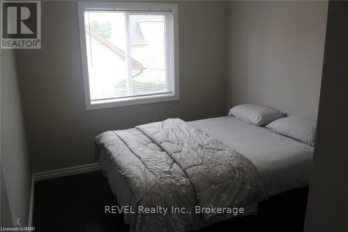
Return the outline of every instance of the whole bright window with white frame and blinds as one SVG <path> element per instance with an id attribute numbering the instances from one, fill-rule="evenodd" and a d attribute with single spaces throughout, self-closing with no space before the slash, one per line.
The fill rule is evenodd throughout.
<path id="1" fill-rule="evenodd" d="M 79 2 L 86 109 L 179 100 L 177 5 Z"/>

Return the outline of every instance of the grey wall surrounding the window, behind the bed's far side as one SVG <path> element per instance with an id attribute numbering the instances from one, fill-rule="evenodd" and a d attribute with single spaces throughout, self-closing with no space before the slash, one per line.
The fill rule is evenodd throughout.
<path id="1" fill-rule="evenodd" d="M 225 113 L 227 3 L 177 3 L 180 100 L 86 111 L 77 2 L 42 1 L 42 49 L 17 51 L 34 172 L 95 162 L 93 139 L 106 130 Z"/>

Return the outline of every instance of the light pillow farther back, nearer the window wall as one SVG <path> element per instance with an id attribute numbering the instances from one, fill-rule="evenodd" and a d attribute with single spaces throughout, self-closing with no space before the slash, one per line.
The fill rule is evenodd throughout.
<path id="1" fill-rule="evenodd" d="M 284 114 L 275 109 L 262 105 L 244 104 L 237 105 L 230 109 L 228 116 L 234 116 L 246 123 L 254 125 L 267 125 L 278 118 L 283 118 Z"/>

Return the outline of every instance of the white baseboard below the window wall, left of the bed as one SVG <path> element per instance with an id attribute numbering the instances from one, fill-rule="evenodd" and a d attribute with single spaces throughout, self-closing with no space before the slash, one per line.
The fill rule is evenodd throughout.
<path id="1" fill-rule="evenodd" d="M 42 171 L 33 173 L 33 180 L 47 180 L 52 178 L 58 178 L 62 176 L 72 176 L 80 173 L 86 173 L 90 171 L 100 170 L 100 165 L 98 163 L 86 164 L 81 166 L 69 167 L 66 169 L 56 169 L 52 171 Z"/>

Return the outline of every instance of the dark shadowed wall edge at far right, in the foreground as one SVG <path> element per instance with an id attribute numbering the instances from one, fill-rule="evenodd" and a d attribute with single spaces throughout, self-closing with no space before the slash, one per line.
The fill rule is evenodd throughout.
<path id="1" fill-rule="evenodd" d="M 348 1 L 330 1 L 305 232 L 348 231 Z"/>

